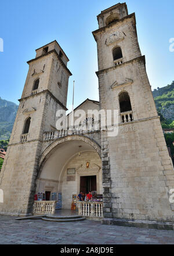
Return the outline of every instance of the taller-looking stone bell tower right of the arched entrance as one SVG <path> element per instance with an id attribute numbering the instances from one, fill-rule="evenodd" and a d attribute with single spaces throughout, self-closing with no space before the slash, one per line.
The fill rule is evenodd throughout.
<path id="1" fill-rule="evenodd" d="M 173 221 L 174 171 L 137 40 L 135 13 L 118 3 L 97 16 L 100 109 L 119 110 L 118 136 L 102 131 L 104 223 Z"/>

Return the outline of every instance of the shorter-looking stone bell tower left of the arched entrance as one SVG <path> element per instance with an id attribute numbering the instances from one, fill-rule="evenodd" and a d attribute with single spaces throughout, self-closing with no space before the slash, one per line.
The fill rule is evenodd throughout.
<path id="1" fill-rule="evenodd" d="M 68 58 L 57 41 L 36 50 L 29 64 L 19 110 L 0 173 L 0 214 L 30 214 L 42 135 L 56 126 L 56 111 L 66 109 Z"/>

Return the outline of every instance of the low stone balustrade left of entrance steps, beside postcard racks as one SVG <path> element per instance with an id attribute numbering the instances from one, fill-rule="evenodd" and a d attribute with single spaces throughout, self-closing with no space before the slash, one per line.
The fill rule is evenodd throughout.
<path id="1" fill-rule="evenodd" d="M 57 201 L 34 201 L 33 214 L 54 214 Z"/>

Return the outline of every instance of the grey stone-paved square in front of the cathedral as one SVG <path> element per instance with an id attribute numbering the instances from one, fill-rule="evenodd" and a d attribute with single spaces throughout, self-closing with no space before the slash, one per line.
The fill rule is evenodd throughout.
<path id="1" fill-rule="evenodd" d="M 100 222 L 16 221 L 0 215 L 0 244 L 174 244 L 174 231 L 106 226 Z"/>

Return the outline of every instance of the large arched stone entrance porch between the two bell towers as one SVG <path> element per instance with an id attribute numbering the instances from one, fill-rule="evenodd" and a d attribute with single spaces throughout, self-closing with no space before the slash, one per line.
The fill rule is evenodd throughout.
<path id="1" fill-rule="evenodd" d="M 73 195 L 87 190 L 102 194 L 100 146 L 85 136 L 72 135 L 53 142 L 39 161 L 36 193 L 61 192 L 64 209 Z M 48 200 L 48 198 L 47 198 Z"/>

